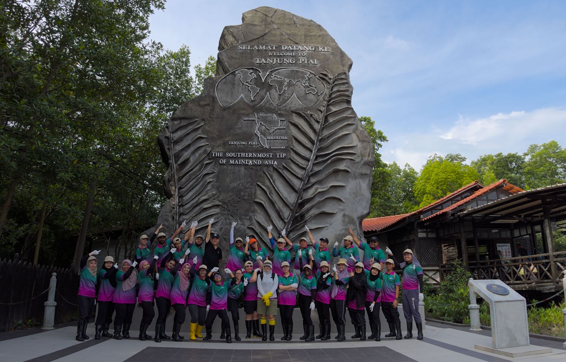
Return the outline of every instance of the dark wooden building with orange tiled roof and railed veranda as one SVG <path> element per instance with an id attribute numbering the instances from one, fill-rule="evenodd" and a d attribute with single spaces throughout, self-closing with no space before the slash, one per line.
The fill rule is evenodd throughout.
<path id="1" fill-rule="evenodd" d="M 475 181 L 412 213 L 365 219 L 362 228 L 394 255 L 413 249 L 431 283 L 462 260 L 475 279 L 550 292 L 566 269 L 566 251 L 555 251 L 552 239 L 566 228 L 566 184 L 524 191 L 505 179 Z"/>

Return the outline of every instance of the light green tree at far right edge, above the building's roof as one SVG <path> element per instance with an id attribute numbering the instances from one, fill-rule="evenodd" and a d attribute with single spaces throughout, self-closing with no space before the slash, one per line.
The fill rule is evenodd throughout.
<path id="1" fill-rule="evenodd" d="M 556 141 L 532 144 L 523 153 L 525 188 L 534 189 L 566 182 L 566 149 Z"/>

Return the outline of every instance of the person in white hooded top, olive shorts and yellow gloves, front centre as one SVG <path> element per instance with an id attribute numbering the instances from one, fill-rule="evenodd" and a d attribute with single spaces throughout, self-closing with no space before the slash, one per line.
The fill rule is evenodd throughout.
<path id="1" fill-rule="evenodd" d="M 275 316 L 277 315 L 277 287 L 279 279 L 271 269 L 271 261 L 265 260 L 263 272 L 258 275 L 258 314 L 261 319 L 261 341 L 267 341 L 267 316 L 269 316 L 269 341 L 275 341 Z"/>

